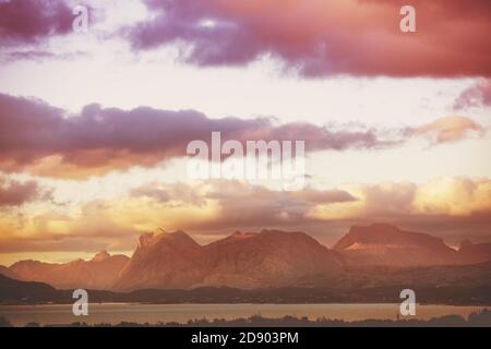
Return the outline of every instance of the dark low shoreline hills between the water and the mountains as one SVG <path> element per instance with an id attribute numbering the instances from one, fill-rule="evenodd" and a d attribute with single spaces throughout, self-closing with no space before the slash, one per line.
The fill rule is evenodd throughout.
<path id="1" fill-rule="evenodd" d="M 491 264 L 489 265 L 491 267 Z M 418 273 L 421 279 L 421 270 Z M 439 277 L 442 278 L 440 273 Z M 373 275 L 358 278 L 376 280 Z M 466 274 L 467 275 L 467 274 Z M 397 276 L 402 280 L 394 280 L 395 285 L 363 287 L 364 281 L 355 282 L 339 279 L 332 286 L 324 287 L 284 287 L 275 289 L 240 290 L 227 287 L 207 287 L 191 290 L 136 290 L 129 293 L 111 291 L 87 290 L 91 302 L 94 303 L 147 303 L 147 304 L 212 304 L 212 303 L 270 303 L 270 304 L 301 304 L 301 303 L 398 303 L 399 293 L 405 288 L 412 288 L 418 294 L 420 304 L 446 305 L 484 305 L 491 304 L 491 284 L 489 275 L 460 278 L 459 282 L 440 280 L 439 285 L 412 286 L 416 282 L 407 275 Z M 436 279 L 436 276 L 426 276 Z M 465 282 L 463 282 L 463 280 Z M 57 290 L 53 287 L 33 281 L 20 281 L 0 275 L 0 304 L 72 304 L 73 290 Z"/>

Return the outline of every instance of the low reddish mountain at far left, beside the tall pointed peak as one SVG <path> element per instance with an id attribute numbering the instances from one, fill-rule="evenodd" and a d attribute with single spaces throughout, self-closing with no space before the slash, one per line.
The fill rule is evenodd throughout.
<path id="1" fill-rule="evenodd" d="M 129 262 L 124 255 L 99 252 L 91 261 L 77 260 L 64 264 L 21 261 L 5 274 L 19 280 L 46 282 L 60 289 L 108 289 Z"/>

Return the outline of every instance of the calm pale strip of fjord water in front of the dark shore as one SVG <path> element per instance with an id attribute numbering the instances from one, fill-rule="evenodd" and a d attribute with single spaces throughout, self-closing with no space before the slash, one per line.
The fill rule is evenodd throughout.
<path id="1" fill-rule="evenodd" d="M 484 306 L 417 305 L 416 318 L 428 320 L 444 315 L 463 315 Z M 71 304 L 1 305 L 0 316 L 15 326 L 29 322 L 40 325 L 118 324 L 133 322 L 156 324 L 157 322 L 185 323 L 190 320 L 246 318 L 253 315 L 278 318 L 286 315 L 316 320 L 320 317 L 358 321 L 367 318 L 396 320 L 399 304 L 89 304 L 87 316 L 74 316 Z"/>

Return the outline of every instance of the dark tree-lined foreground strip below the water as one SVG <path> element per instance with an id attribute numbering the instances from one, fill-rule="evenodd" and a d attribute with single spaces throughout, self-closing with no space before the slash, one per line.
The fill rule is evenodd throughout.
<path id="1" fill-rule="evenodd" d="M 60 326 L 60 325 L 57 325 Z M 187 323 L 156 323 L 156 324 L 139 324 L 131 322 L 121 322 L 116 325 L 96 324 L 88 325 L 86 323 L 72 323 L 61 325 L 62 327 L 491 327 L 491 311 L 484 309 L 480 312 L 470 313 L 466 318 L 462 315 L 445 315 L 433 317 L 430 320 L 374 320 L 368 318 L 363 321 L 347 322 L 343 320 L 331 320 L 321 317 L 318 320 L 309 320 L 308 317 L 284 316 L 280 318 L 262 317 L 254 315 L 248 318 L 224 320 L 216 318 L 208 321 L 191 320 Z M 12 324 L 0 317 L 0 327 L 13 327 Z M 37 323 L 28 323 L 25 327 L 40 327 Z M 45 326 L 52 327 L 52 326 Z"/>

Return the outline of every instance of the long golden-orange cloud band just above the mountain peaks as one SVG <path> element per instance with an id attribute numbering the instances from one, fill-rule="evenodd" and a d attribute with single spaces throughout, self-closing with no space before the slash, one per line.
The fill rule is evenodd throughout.
<path id="1" fill-rule="evenodd" d="M 48 206 L 0 217 L 0 253 L 129 251 L 158 227 L 202 237 L 235 230 L 301 229 L 330 237 L 333 227 L 383 221 L 417 230 L 489 239 L 491 180 L 446 177 L 424 184 L 384 182 L 333 190 L 274 191 L 238 181 L 148 183 L 65 213 Z M 457 231 L 455 231 L 457 230 Z"/>

